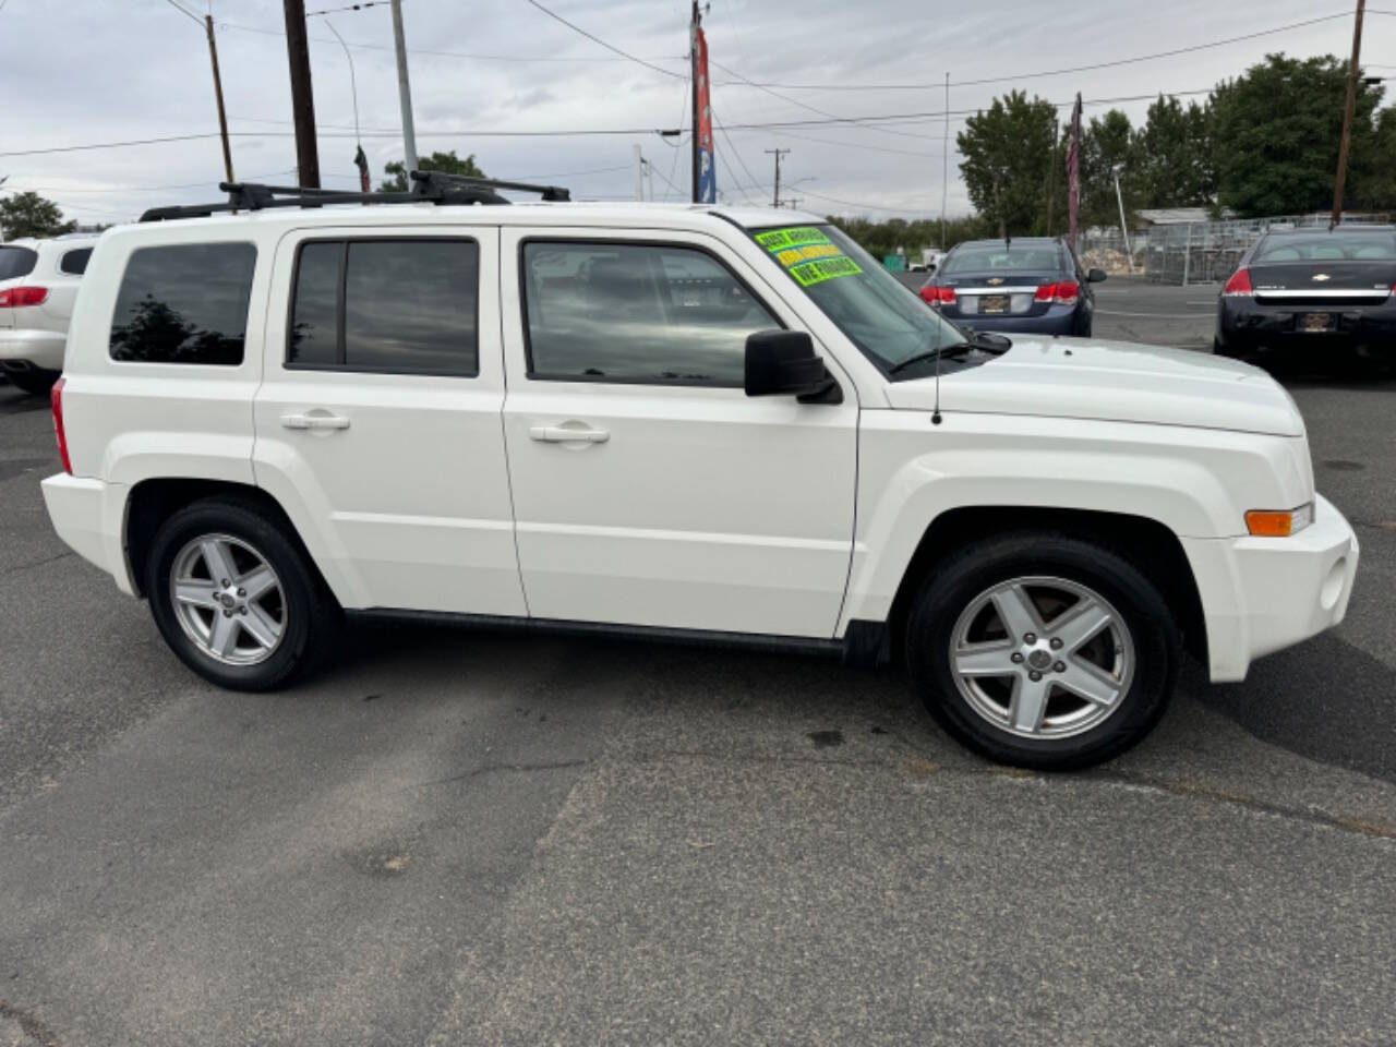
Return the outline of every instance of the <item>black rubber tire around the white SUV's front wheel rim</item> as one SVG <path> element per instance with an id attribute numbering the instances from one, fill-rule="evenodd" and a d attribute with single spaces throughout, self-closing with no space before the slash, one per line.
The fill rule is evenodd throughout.
<path id="1" fill-rule="evenodd" d="M 1113 712 L 1083 733 L 1015 734 L 976 712 L 955 683 L 951 644 L 960 614 L 993 586 L 1029 577 L 1061 578 L 1094 591 L 1129 631 L 1131 684 Z M 1071 771 L 1120 755 L 1153 729 L 1173 694 L 1180 646 L 1177 624 L 1157 586 L 1118 551 L 1057 532 L 1015 532 L 977 542 L 937 565 L 907 616 L 905 651 L 913 687 L 956 740 L 1000 764 Z"/>

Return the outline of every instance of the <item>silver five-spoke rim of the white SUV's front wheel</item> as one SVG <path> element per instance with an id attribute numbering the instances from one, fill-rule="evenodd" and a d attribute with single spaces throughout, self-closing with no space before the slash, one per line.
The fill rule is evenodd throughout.
<path id="1" fill-rule="evenodd" d="M 977 715 L 1027 738 L 1100 726 L 1134 683 L 1129 628 L 1104 596 L 1065 578 L 986 589 L 951 632 L 951 676 Z"/>

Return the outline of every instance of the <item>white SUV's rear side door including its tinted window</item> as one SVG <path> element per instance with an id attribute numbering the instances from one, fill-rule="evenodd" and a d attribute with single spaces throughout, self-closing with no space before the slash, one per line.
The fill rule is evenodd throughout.
<path id="1" fill-rule="evenodd" d="M 524 614 L 498 232 L 307 229 L 275 264 L 258 484 L 295 507 L 348 606 Z"/>

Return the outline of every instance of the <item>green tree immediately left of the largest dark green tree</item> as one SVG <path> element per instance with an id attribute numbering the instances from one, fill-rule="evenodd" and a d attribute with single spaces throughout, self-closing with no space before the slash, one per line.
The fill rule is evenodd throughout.
<path id="1" fill-rule="evenodd" d="M 1139 207 L 1209 207 L 1216 201 L 1208 107 L 1159 95 L 1129 145 Z"/>

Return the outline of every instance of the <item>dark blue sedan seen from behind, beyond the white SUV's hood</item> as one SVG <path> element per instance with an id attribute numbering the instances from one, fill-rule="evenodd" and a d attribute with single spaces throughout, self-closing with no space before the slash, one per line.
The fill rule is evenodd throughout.
<path id="1" fill-rule="evenodd" d="M 970 240 L 956 244 L 921 288 L 942 317 L 976 331 L 1090 336 L 1092 283 L 1062 237 Z"/>

